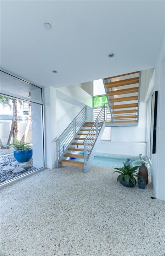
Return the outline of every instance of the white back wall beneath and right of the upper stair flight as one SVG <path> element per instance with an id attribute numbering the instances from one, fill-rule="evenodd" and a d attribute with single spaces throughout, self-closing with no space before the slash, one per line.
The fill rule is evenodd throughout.
<path id="1" fill-rule="evenodd" d="M 122 155 L 147 155 L 147 103 L 144 102 L 148 71 L 142 71 L 138 126 L 111 127 L 111 142 L 100 141 L 97 152 Z"/>

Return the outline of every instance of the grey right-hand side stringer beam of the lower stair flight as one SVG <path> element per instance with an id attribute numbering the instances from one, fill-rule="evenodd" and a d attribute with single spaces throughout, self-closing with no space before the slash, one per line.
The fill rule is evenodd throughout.
<path id="1" fill-rule="evenodd" d="M 88 161 L 87 161 L 86 165 L 84 165 L 84 172 L 85 172 L 85 173 L 89 170 L 90 165 L 92 164 L 92 160 L 93 160 L 93 158 L 94 158 L 94 155 L 95 155 L 95 152 L 96 152 L 96 150 L 97 150 L 97 146 L 98 146 L 98 144 L 99 144 L 99 142 L 100 142 L 101 136 L 102 136 L 102 134 L 103 134 L 103 132 L 104 132 L 104 128 L 105 128 L 105 121 L 104 121 L 104 123 L 103 123 L 103 125 L 102 125 L 102 127 L 101 127 L 101 129 L 100 129 L 99 135 L 98 135 L 98 137 L 97 137 L 97 140 L 96 140 L 95 143 L 94 143 L 93 149 L 92 149 L 92 151 L 90 152 Z"/>

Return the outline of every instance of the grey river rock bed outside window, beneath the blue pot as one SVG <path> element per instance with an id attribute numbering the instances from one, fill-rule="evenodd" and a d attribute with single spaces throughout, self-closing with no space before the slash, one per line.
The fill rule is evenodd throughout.
<path id="1" fill-rule="evenodd" d="M 13 154 L 3 155 L 0 159 L 0 183 L 9 181 L 33 170 L 35 168 L 33 167 L 32 159 L 29 162 L 20 163 L 15 160 Z"/>

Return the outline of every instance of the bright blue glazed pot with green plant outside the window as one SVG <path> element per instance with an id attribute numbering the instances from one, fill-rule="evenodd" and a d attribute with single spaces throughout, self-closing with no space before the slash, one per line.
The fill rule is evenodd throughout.
<path id="1" fill-rule="evenodd" d="M 16 140 L 13 144 L 10 144 L 10 148 L 14 148 L 14 157 L 18 162 L 28 162 L 33 155 L 33 150 L 29 148 L 28 142 L 22 142 Z"/>

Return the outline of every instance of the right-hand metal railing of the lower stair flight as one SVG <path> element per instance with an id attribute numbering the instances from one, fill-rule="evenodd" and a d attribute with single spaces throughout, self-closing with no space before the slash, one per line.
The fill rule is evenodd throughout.
<path id="1" fill-rule="evenodd" d="M 90 131 L 86 139 L 84 140 L 84 170 L 104 122 L 105 122 L 105 104 L 101 108 L 100 113 L 98 114 L 98 117 L 96 118 L 93 126 L 90 128 Z"/>

